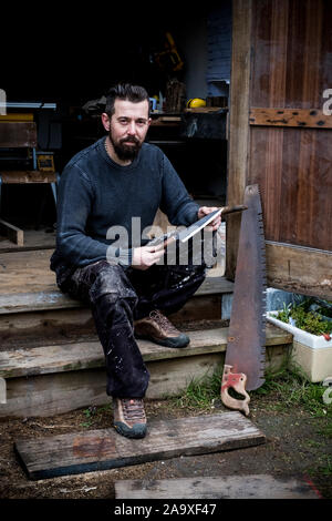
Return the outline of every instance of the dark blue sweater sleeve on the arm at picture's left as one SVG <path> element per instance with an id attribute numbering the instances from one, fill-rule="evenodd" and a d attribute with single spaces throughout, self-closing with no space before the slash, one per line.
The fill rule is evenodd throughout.
<path id="1" fill-rule="evenodd" d="M 86 234 L 93 204 L 93 186 L 77 165 L 69 165 L 61 175 L 58 194 L 56 249 L 74 266 L 106 259 L 131 264 L 131 251 L 104 244 Z"/>

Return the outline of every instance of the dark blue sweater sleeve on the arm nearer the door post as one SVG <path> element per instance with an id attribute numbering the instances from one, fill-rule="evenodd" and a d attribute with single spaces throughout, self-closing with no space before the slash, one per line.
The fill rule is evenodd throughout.
<path id="1" fill-rule="evenodd" d="M 170 224 L 175 226 L 189 226 L 197 221 L 199 205 L 189 196 L 184 183 L 179 178 L 166 155 L 163 155 L 163 195 L 160 210 Z"/>

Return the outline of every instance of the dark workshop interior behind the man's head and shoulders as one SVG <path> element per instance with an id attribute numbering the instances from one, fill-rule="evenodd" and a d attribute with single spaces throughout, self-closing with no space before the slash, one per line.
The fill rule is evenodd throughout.
<path id="1" fill-rule="evenodd" d="M 100 114 L 108 88 L 117 81 L 143 84 L 156 100 L 147 141 L 165 151 L 195 200 L 222 205 L 231 1 L 176 12 L 110 6 L 50 17 L 52 24 L 31 21 L 33 16 L 27 24 L 21 12 L 15 30 L 1 35 L 8 50 L 0 83 L 7 114 L 30 114 L 37 123 L 38 161 L 42 152 L 46 161 L 51 155 L 61 175 L 76 152 L 104 135 Z M 190 99 L 203 99 L 205 106 L 188 109 Z M 24 149 L 2 146 L 0 161 L 0 171 L 34 167 Z M 54 232 L 50 186 L 3 182 L 0 217 L 22 229 Z"/>

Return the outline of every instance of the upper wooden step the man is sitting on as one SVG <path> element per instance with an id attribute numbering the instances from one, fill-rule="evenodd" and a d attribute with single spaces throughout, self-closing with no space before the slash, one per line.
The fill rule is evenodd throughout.
<path id="1" fill-rule="evenodd" d="M 91 309 L 58 288 L 49 269 L 50 255 L 48 249 L 0 255 L 0 350 L 96 336 Z M 230 295 L 232 288 L 218 268 L 209 269 L 172 321 L 220 319 L 222 295 Z"/>

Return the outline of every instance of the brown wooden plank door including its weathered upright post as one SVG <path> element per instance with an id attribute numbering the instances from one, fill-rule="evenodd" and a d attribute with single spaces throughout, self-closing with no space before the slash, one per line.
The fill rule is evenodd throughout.
<path id="1" fill-rule="evenodd" d="M 332 2 L 232 7 L 228 204 L 258 183 L 268 285 L 332 299 Z M 228 217 L 228 278 L 239 225 Z"/>

